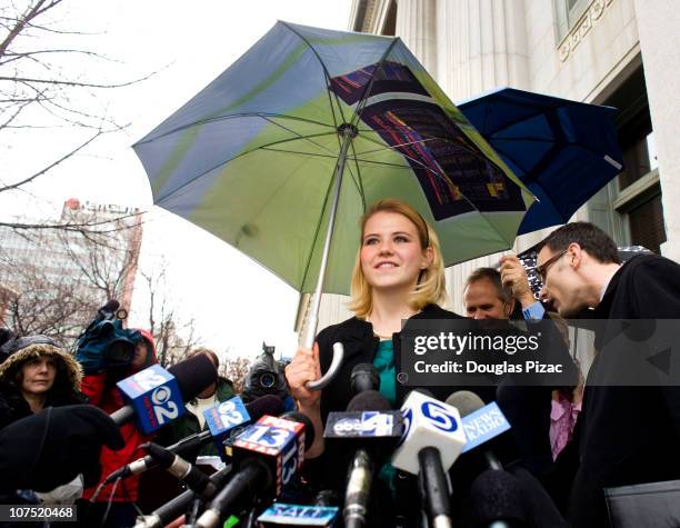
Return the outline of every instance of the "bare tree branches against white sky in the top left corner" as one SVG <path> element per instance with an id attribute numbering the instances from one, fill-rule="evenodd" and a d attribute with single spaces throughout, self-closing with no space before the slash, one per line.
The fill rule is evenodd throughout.
<path id="1" fill-rule="evenodd" d="M 30 133 L 32 129 L 69 127 L 92 130 L 92 133 L 63 152 L 56 151 L 53 161 L 31 175 L 3 178 L 7 185 L 0 187 L 0 192 L 16 191 L 31 183 L 89 148 L 102 135 L 124 130 L 127 123 L 107 116 L 106 106 L 98 101 L 99 94 L 102 90 L 137 84 L 157 73 L 131 80 L 88 78 L 91 71 L 87 68 L 88 61 L 118 61 L 90 49 L 63 46 L 58 40 L 53 47 L 46 46 L 46 32 L 81 37 L 94 33 L 64 30 L 57 27 L 53 17 L 46 17 L 59 13 L 57 8 L 62 0 L 28 0 L 26 4 L 9 3 L 0 8 L 0 132 L 17 135 Z M 71 57 L 81 59 L 80 69 L 73 68 Z M 88 98 L 90 104 L 83 103 L 82 97 Z M 12 136 L 12 141 L 16 138 Z"/>

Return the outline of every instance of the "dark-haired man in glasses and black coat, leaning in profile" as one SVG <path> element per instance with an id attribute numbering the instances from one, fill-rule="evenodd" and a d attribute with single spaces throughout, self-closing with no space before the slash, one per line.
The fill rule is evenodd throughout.
<path id="1" fill-rule="evenodd" d="M 613 341 L 621 333 L 617 320 L 680 319 L 680 266 L 657 255 L 640 255 L 621 266 L 607 233 L 574 222 L 546 239 L 537 269 L 541 298 L 550 299 L 562 317 L 587 312 L 608 320 L 596 332 L 600 352 L 586 381 L 574 432 L 580 465 L 569 508 L 574 527 L 607 526 L 603 488 L 680 478 L 680 387 L 617 383 L 617 369 L 626 368 L 617 358 L 623 355 L 603 348 L 620 342 Z M 633 353 L 643 355 L 650 341 L 632 346 Z M 612 380 L 612 372 L 613 382 L 596 381 L 607 375 Z"/>

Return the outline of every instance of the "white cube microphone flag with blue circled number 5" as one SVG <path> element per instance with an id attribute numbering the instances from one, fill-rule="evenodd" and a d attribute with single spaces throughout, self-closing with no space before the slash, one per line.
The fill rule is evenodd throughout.
<path id="1" fill-rule="evenodd" d="M 418 454 L 426 447 L 436 447 L 440 450 L 441 465 L 447 471 L 466 445 L 458 409 L 413 390 L 401 406 L 401 411 L 406 427 L 401 442 L 392 455 L 392 466 L 418 475 Z"/>

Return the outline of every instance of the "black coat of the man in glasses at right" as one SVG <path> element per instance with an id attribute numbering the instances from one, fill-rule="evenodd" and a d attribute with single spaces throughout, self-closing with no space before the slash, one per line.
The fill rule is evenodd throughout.
<path id="1" fill-rule="evenodd" d="M 680 319 L 680 266 L 659 256 L 634 257 L 613 276 L 593 316 Z M 600 329 L 597 349 L 603 349 L 617 328 L 609 323 Z M 646 346 L 641 342 L 641 353 Z M 680 387 L 589 386 L 602 371 L 599 359 L 588 375 L 574 431 L 580 466 L 570 518 L 576 527 L 607 525 L 603 487 L 680 478 Z"/>

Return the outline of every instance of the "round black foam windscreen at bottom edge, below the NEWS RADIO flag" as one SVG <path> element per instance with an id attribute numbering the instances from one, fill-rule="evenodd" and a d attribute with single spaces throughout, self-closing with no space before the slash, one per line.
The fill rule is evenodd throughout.
<path id="1" fill-rule="evenodd" d="M 472 508 L 481 526 L 504 520 L 511 526 L 524 526 L 520 481 L 507 471 L 488 469 L 470 488 Z"/>

